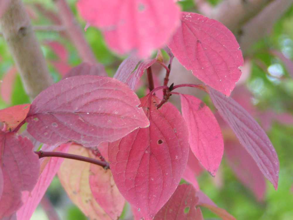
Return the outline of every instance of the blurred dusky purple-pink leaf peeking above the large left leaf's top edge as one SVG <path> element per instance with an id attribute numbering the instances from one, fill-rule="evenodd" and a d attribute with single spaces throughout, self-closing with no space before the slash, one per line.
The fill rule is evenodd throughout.
<path id="1" fill-rule="evenodd" d="M 105 69 L 98 64 L 81 63 L 76 67 L 73 67 L 64 77 L 81 76 L 81 75 L 93 75 L 93 76 L 108 76 Z"/>

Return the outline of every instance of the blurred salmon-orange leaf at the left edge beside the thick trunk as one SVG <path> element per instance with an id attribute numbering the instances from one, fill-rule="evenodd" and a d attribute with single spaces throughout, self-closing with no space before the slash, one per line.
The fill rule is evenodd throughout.
<path id="1" fill-rule="evenodd" d="M 12 96 L 12 91 L 13 91 L 13 84 L 15 82 L 15 77 L 16 77 L 16 67 L 11 67 L 5 76 L 2 79 L 1 85 L 1 97 L 2 99 L 8 103 L 11 104 L 11 96 Z"/>

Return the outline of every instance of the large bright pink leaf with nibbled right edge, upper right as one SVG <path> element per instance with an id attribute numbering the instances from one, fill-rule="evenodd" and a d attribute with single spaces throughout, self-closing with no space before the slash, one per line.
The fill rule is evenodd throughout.
<path id="1" fill-rule="evenodd" d="M 182 12 L 181 26 L 168 47 L 198 79 L 230 95 L 244 61 L 235 36 L 223 24 L 197 13 Z"/>

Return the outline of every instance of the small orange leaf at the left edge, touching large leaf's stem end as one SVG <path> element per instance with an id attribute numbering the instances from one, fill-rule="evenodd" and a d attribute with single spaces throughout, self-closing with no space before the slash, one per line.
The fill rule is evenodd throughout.
<path id="1" fill-rule="evenodd" d="M 25 118 L 30 104 L 15 105 L 0 110 L 0 121 L 6 124 L 6 131 L 13 131 Z"/>

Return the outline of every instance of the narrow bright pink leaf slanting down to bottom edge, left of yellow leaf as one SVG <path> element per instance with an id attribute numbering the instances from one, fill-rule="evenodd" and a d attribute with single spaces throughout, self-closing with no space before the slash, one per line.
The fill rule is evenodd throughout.
<path id="1" fill-rule="evenodd" d="M 56 149 L 58 152 L 67 152 L 70 144 L 61 145 Z M 54 176 L 56 175 L 61 163 L 64 158 L 52 157 L 49 162 L 43 160 L 43 163 L 46 163 L 45 168 L 42 170 L 37 184 L 35 185 L 32 192 L 23 192 L 22 200 L 24 202 L 23 206 L 17 211 L 18 219 L 21 220 L 30 220 L 30 217 L 33 215 L 33 212 L 40 203 L 42 197 L 44 196 L 47 188 L 52 182 Z M 43 165 L 43 163 L 41 165 Z"/>

